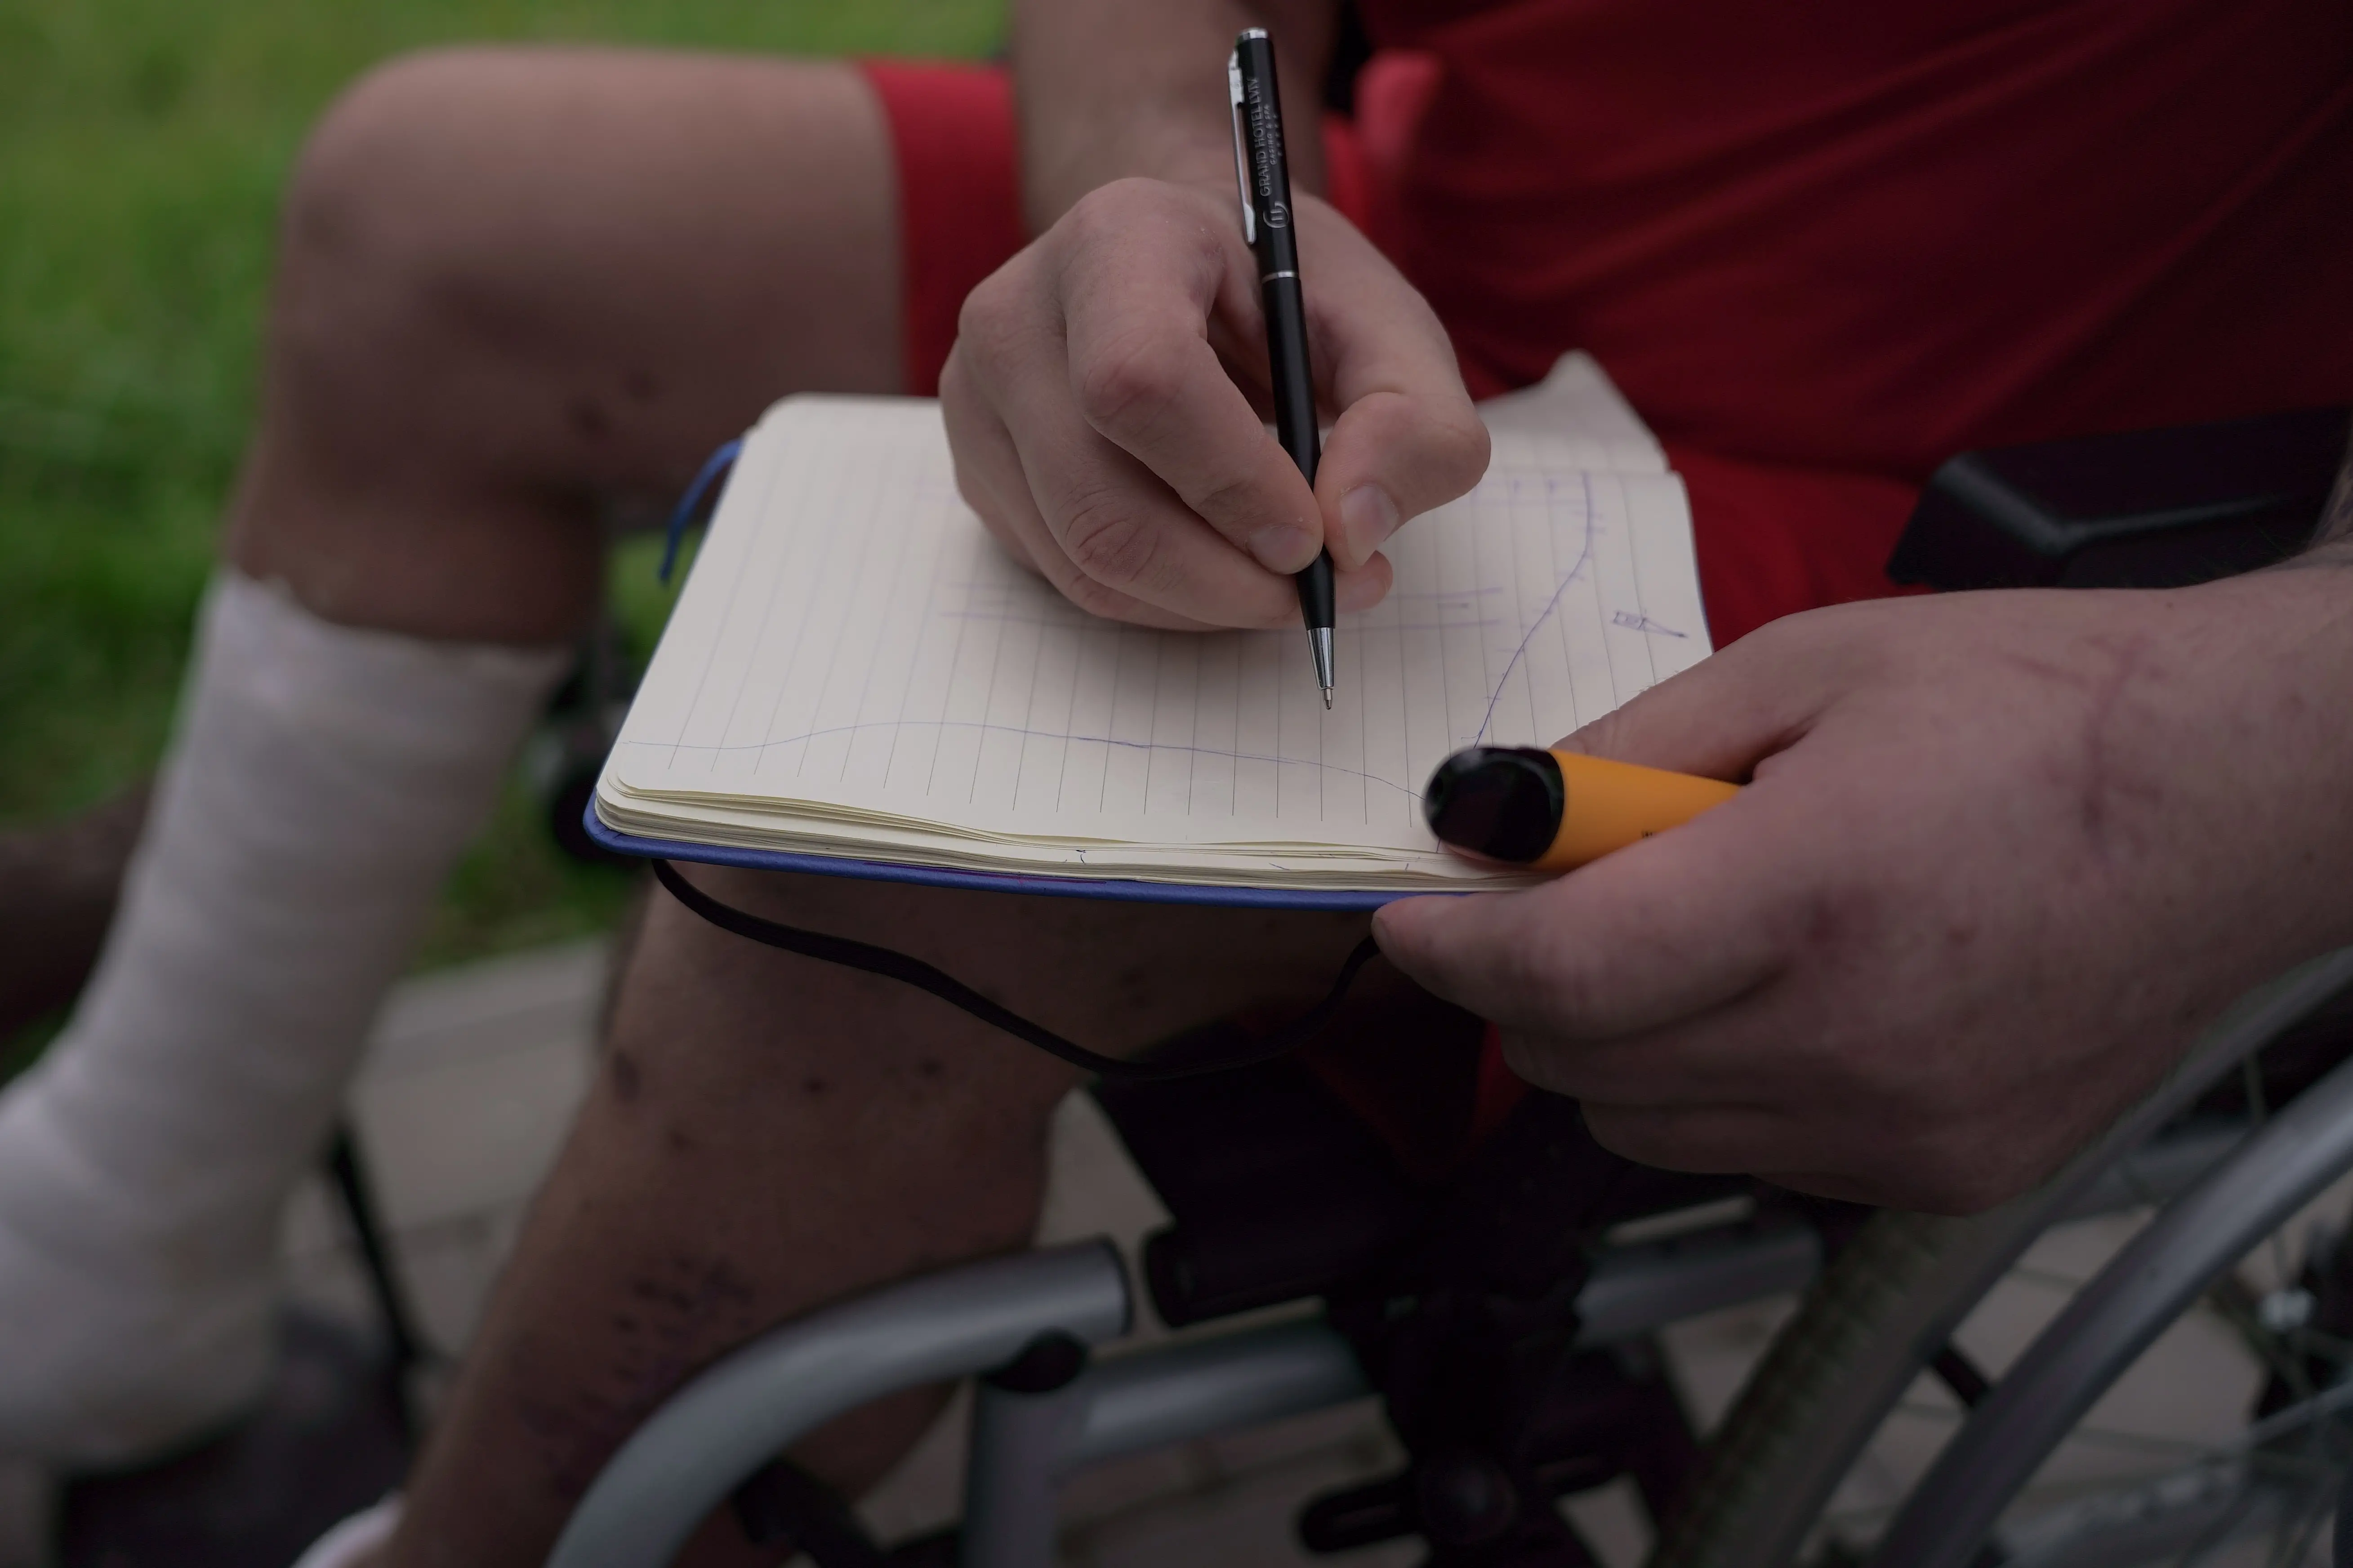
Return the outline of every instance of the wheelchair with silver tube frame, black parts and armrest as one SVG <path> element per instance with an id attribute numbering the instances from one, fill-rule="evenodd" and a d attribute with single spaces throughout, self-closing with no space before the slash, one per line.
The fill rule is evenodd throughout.
<path id="1" fill-rule="evenodd" d="M 1889 569 L 1960 588 L 2257 567 L 2308 534 L 2344 433 L 2329 409 L 1969 454 L 1927 487 Z M 1633 1166 L 1574 1103 L 1508 1079 L 1475 1018 L 1344 1013 L 1292 1058 L 1089 1091 L 1172 1215 L 1141 1281 L 1089 1241 L 776 1328 L 638 1429 L 548 1561 L 652 1568 L 732 1507 L 753 1542 L 819 1568 L 1042 1568 L 1080 1469 L 1365 1396 L 1407 1460 L 1304 1497 L 1311 1554 L 1419 1537 L 1428 1568 L 1577 1568 L 1598 1559 L 1555 1500 L 1628 1481 L 1654 1568 L 2318 1561 L 2353 1462 L 2348 1058 L 2353 950 L 2235 1004 L 2038 1192 L 1929 1218 Z M 2120 1246 L 2005 1363 L 1972 1349 L 1972 1314 L 2087 1220 Z M 1659 1331 L 1795 1291 L 1701 1436 Z M 1122 1352 L 1139 1293 L 1188 1333 Z M 2247 1425 L 2054 1472 L 2186 1312 L 2252 1359 Z M 779 1458 L 861 1403 L 962 1378 L 953 1533 L 878 1544 Z M 1922 1408 L 1934 1439 L 1864 1495 L 1859 1460 Z"/>

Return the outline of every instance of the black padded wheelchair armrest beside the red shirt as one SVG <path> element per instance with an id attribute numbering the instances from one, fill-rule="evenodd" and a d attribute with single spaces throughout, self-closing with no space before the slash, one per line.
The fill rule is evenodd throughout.
<path id="1" fill-rule="evenodd" d="M 1887 576 L 1929 588 L 2186 588 L 2268 567 L 2320 520 L 2348 409 L 1965 451 Z"/>

